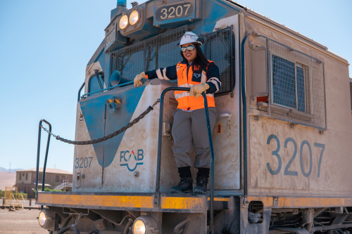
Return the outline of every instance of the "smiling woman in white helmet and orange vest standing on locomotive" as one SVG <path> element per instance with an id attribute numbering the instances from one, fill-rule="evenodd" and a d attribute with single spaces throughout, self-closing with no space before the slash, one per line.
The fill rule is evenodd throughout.
<path id="1" fill-rule="evenodd" d="M 142 79 L 177 79 L 179 87 L 189 87 L 188 91 L 175 91 L 178 102 L 174 112 L 172 137 L 175 161 L 180 174 L 180 183 L 171 188 L 171 193 L 192 193 L 191 150 L 196 158 L 194 167 L 198 168 L 194 193 L 206 193 L 210 171 L 210 146 L 204 103 L 201 93 L 206 93 L 209 107 L 211 129 L 217 117 L 214 94 L 220 90 L 219 68 L 207 60 L 201 51 L 203 39 L 193 32 L 186 32 L 180 41 L 182 62 L 177 65 L 142 72 L 134 78 L 134 86 L 142 84 Z"/>

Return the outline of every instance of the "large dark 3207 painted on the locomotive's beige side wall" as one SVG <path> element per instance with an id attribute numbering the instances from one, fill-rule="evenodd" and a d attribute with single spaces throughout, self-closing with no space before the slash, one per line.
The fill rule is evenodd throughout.
<path id="1" fill-rule="evenodd" d="M 268 139 L 266 141 L 267 145 L 270 145 L 270 143 L 272 141 L 275 141 L 276 145 L 277 145 L 276 149 L 274 151 L 272 151 L 272 155 L 274 157 L 276 157 L 276 160 L 277 160 L 277 167 L 272 168 L 272 166 L 270 165 L 269 162 L 266 164 L 266 166 L 267 166 L 270 174 L 277 175 L 277 174 L 279 174 L 279 172 L 282 169 L 282 157 L 279 154 L 281 144 L 280 144 L 279 138 L 274 134 L 271 134 L 268 137 Z M 287 148 L 287 146 L 289 144 L 293 145 L 294 152 L 292 152 L 292 155 L 289 158 L 289 162 L 284 167 L 284 175 L 285 176 L 298 176 L 298 171 L 291 169 L 292 163 L 294 162 L 294 160 L 296 160 L 296 155 L 298 152 L 297 151 L 298 145 L 297 145 L 296 141 L 294 140 L 294 138 L 291 138 L 291 137 L 286 138 L 286 140 L 284 141 L 284 148 Z M 301 173 L 303 174 L 303 176 L 306 176 L 306 177 L 308 177 L 308 176 L 310 176 L 310 174 L 312 174 L 313 163 L 318 163 L 318 177 L 320 177 L 320 165 L 322 163 L 322 155 L 324 154 L 325 145 L 322 143 L 314 143 L 313 145 L 315 148 L 320 148 L 320 155 L 319 155 L 318 162 L 313 160 L 312 147 L 310 146 L 310 143 L 308 141 L 306 141 L 306 140 L 302 141 L 301 145 L 299 145 L 299 164 L 301 166 Z M 305 150 L 305 152 L 307 152 L 307 150 L 308 150 L 308 155 L 304 154 L 303 150 Z M 303 160 L 305 157 L 308 157 L 308 159 L 309 159 L 308 167 L 306 165 L 303 165 Z"/>

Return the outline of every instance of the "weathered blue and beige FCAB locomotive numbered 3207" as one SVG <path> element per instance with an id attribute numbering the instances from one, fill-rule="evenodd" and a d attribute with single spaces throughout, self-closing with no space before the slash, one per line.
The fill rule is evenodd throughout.
<path id="1" fill-rule="evenodd" d="M 177 84 L 133 86 L 136 74 L 180 62 L 187 31 L 203 37 L 222 82 L 206 195 L 170 193 Z M 233 1 L 127 9 L 118 0 L 78 93 L 73 190 L 37 193 L 39 225 L 50 233 L 350 233 L 349 82 L 347 60 Z"/>

